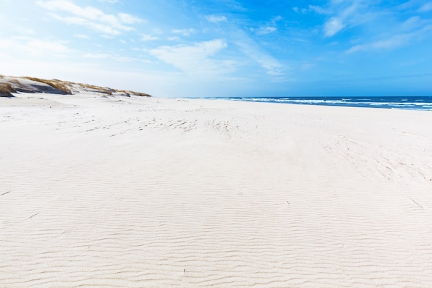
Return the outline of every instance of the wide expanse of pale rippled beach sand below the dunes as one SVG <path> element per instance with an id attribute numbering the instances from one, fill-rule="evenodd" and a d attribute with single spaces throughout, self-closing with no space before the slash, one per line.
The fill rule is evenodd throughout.
<path id="1" fill-rule="evenodd" d="M 432 286 L 429 111 L 19 97 L 0 287 Z"/>

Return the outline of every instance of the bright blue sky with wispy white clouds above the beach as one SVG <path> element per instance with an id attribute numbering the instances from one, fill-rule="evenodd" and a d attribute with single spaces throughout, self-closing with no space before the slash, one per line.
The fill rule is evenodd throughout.
<path id="1" fill-rule="evenodd" d="M 0 0 L 0 74 L 157 97 L 432 95 L 432 1 Z"/>

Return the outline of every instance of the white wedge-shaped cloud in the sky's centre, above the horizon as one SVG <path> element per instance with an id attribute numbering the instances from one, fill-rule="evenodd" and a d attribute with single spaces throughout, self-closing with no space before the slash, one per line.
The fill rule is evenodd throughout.
<path id="1" fill-rule="evenodd" d="M 190 75 L 209 75 L 226 73 L 232 69 L 230 61 L 211 59 L 227 45 L 221 39 L 203 41 L 192 46 L 162 46 L 150 50 L 150 55 L 183 70 Z"/>

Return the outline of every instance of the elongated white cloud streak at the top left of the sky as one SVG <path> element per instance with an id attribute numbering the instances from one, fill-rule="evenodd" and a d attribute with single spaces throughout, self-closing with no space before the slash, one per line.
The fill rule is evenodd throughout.
<path id="1" fill-rule="evenodd" d="M 121 12 L 117 13 L 117 15 L 106 14 L 97 8 L 91 6 L 81 7 L 68 0 L 37 1 L 36 3 L 40 7 L 51 11 L 50 16 L 59 21 L 86 26 L 108 35 L 119 35 L 121 32 L 134 30 L 132 24 L 144 21 Z M 63 12 L 66 15 L 55 14 L 55 12 Z"/>

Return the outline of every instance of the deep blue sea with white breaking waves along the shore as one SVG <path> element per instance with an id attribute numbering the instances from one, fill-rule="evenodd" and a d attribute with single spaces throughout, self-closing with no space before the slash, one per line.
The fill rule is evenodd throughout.
<path id="1" fill-rule="evenodd" d="M 397 108 L 432 111 L 432 96 L 385 97 L 217 97 L 233 101 L 270 102 L 284 104 Z"/>

